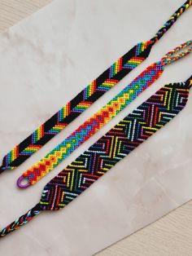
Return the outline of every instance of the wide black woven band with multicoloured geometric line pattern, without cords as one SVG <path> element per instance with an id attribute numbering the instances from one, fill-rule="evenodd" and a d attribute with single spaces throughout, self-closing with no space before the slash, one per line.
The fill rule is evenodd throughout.
<path id="1" fill-rule="evenodd" d="M 68 205 L 154 135 L 185 107 L 189 90 L 189 82 L 168 84 L 120 121 L 46 184 L 40 201 L 42 210 L 59 210 Z"/>

